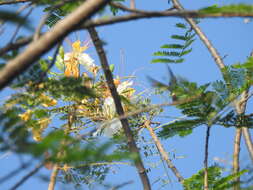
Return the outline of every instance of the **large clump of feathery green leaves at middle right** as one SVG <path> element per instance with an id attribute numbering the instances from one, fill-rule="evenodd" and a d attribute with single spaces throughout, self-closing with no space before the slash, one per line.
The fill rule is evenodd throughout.
<path id="1" fill-rule="evenodd" d="M 161 138 L 170 138 L 174 135 L 183 137 L 191 134 L 195 127 L 203 124 L 208 126 L 217 124 L 224 127 L 253 127 L 252 116 L 238 115 L 234 111 L 224 111 L 231 101 L 245 90 L 244 73 L 242 69 L 226 67 L 226 80 L 230 82 L 230 85 L 223 81 L 216 81 L 212 83 L 212 91 L 208 90 L 210 84 L 198 87 L 196 83 L 180 77 L 173 76 L 174 82 L 170 82 L 170 85 L 152 79 L 159 89 L 170 92 L 172 100 L 190 99 L 186 103 L 176 106 L 188 118 L 162 125 L 162 130 L 158 132 L 158 135 Z"/>

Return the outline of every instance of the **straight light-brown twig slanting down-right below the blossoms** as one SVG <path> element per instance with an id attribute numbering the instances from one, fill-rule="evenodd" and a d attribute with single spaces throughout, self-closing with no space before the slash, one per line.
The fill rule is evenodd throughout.
<path id="1" fill-rule="evenodd" d="M 181 174 L 179 173 L 179 171 L 177 170 L 177 168 L 173 165 L 171 159 L 169 158 L 168 154 L 166 153 L 165 149 L 163 148 L 162 143 L 159 141 L 159 139 L 157 138 L 154 130 L 152 129 L 152 127 L 150 126 L 150 121 L 146 121 L 145 122 L 145 127 L 148 129 L 153 141 L 155 142 L 155 145 L 158 149 L 158 151 L 161 153 L 163 160 L 165 160 L 165 162 L 167 163 L 168 168 L 171 169 L 171 171 L 173 172 L 173 174 L 177 177 L 178 181 L 183 184 L 184 183 L 184 178 L 181 176 Z"/>

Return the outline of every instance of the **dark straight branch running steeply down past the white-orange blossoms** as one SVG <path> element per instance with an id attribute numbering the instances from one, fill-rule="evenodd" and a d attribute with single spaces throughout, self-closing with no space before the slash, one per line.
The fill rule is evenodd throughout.
<path id="1" fill-rule="evenodd" d="M 123 116 L 124 115 L 124 110 L 123 110 L 123 107 L 122 107 L 122 104 L 121 104 L 120 96 L 117 92 L 116 86 L 115 86 L 114 81 L 113 81 L 113 76 L 112 76 L 112 73 L 111 73 L 110 68 L 109 68 L 109 64 L 108 64 L 108 61 L 107 61 L 107 57 L 105 55 L 105 51 L 103 49 L 102 42 L 99 39 L 97 31 L 94 28 L 88 28 L 88 31 L 89 31 L 90 37 L 93 41 L 93 44 L 96 48 L 96 51 L 98 53 L 101 66 L 102 66 L 104 74 L 105 74 L 107 85 L 110 89 L 112 98 L 113 98 L 114 103 L 115 103 L 116 112 L 119 116 Z M 130 152 L 137 155 L 137 159 L 134 160 L 134 163 L 135 163 L 136 169 L 139 172 L 139 176 L 141 178 L 143 188 L 145 190 L 150 190 L 151 189 L 150 182 L 149 182 L 146 170 L 144 168 L 144 165 L 142 163 L 140 153 L 139 153 L 139 149 L 136 145 L 136 142 L 134 140 L 134 136 L 133 136 L 132 131 L 129 127 L 128 120 L 124 118 L 124 119 L 120 119 L 120 122 L 121 122 L 122 128 L 124 130 L 124 133 L 127 137 L 127 144 L 128 144 Z"/>

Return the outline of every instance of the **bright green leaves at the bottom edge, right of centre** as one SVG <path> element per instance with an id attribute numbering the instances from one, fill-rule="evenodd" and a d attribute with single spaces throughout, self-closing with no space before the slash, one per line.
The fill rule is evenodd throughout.
<path id="1" fill-rule="evenodd" d="M 246 172 L 247 170 L 242 170 L 236 174 L 222 177 L 222 168 L 219 166 L 211 166 L 208 168 L 208 188 L 210 190 L 230 189 L 235 185 L 233 180 Z M 184 189 L 204 189 L 204 170 L 200 170 L 197 174 L 185 179 Z"/>

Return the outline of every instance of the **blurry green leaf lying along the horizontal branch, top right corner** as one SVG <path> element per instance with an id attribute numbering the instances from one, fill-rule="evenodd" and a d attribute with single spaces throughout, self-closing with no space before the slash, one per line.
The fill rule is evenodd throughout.
<path id="1" fill-rule="evenodd" d="M 248 4 L 232 4 L 218 7 L 217 5 L 206 7 L 199 10 L 203 14 L 214 13 L 253 13 L 253 6 Z"/>

